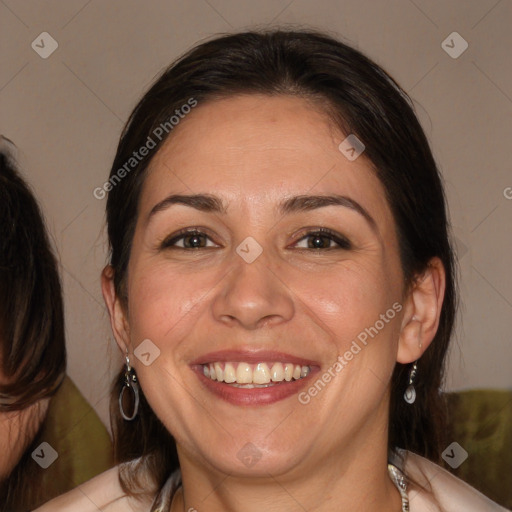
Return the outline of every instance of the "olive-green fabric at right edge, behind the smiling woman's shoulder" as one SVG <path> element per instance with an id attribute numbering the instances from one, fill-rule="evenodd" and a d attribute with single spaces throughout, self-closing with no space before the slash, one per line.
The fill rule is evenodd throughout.
<path id="1" fill-rule="evenodd" d="M 445 467 L 506 508 L 512 508 L 512 391 L 447 393 L 449 444 L 459 443 L 468 458 Z"/>

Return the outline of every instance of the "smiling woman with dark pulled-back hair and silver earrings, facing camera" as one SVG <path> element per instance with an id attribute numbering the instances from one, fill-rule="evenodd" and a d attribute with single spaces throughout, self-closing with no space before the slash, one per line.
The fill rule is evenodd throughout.
<path id="1" fill-rule="evenodd" d="M 376 64 L 311 32 L 201 44 L 102 191 L 120 465 L 41 510 L 503 510 L 428 460 L 455 266 L 427 140 Z"/>

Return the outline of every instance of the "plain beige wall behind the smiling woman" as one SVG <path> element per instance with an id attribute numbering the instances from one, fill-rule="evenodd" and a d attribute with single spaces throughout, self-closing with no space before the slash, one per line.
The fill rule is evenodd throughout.
<path id="1" fill-rule="evenodd" d="M 460 258 L 446 387 L 512 388 L 510 0 L 2 0 L 0 132 L 19 147 L 60 257 L 69 374 L 106 423 L 122 359 L 100 292 L 105 200 L 93 190 L 131 109 L 199 40 L 269 23 L 328 30 L 412 96 L 446 180 Z M 453 32 L 468 44 L 457 58 L 444 49 L 465 46 Z M 58 47 L 42 58 L 50 36 Z"/>

